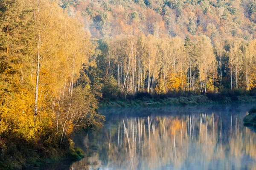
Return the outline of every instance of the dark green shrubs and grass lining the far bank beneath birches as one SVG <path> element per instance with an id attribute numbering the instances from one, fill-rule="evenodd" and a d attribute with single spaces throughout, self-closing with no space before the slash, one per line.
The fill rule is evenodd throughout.
<path id="1" fill-rule="evenodd" d="M 163 105 L 207 105 L 228 103 L 252 103 L 256 102 L 255 96 L 223 96 L 222 94 L 208 93 L 207 95 L 176 92 L 165 95 L 151 96 L 147 93 L 137 93 L 131 99 L 103 100 L 100 108 L 119 107 L 154 107 Z M 255 111 L 256 110 L 252 110 Z M 250 114 L 250 112 L 249 112 Z"/>

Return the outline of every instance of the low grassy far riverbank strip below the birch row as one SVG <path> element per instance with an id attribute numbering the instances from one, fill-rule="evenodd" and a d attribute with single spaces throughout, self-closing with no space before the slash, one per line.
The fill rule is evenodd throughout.
<path id="1" fill-rule="evenodd" d="M 99 103 L 99 108 L 120 107 L 154 107 L 163 105 L 206 105 L 206 104 L 228 104 L 256 102 L 256 96 L 221 96 L 221 95 L 193 95 L 168 97 L 164 99 L 141 98 L 141 99 L 105 99 Z"/>

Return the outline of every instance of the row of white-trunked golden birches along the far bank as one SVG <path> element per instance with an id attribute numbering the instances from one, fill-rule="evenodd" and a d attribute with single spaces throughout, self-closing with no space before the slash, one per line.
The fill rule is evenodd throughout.
<path id="1" fill-rule="evenodd" d="M 206 35 L 193 41 L 116 36 L 100 42 L 98 65 L 106 79 L 115 79 L 112 83 L 128 93 L 249 91 L 256 81 L 255 47 L 255 40 L 212 43 Z"/>

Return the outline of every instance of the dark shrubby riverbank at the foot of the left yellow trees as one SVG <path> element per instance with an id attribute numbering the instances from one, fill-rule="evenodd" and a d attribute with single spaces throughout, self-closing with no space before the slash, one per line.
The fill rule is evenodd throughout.
<path id="1" fill-rule="evenodd" d="M 3 152 L 4 150 L 1 151 Z M 16 145 L 9 148 L 8 153 L 0 155 L 0 170 L 33 169 L 58 161 L 77 161 L 82 158 L 84 158 L 83 150 L 74 147 L 72 140 L 63 147 Z"/>

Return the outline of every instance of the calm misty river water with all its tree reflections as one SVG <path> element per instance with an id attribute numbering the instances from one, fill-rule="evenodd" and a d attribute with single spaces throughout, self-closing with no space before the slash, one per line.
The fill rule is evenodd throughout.
<path id="1" fill-rule="evenodd" d="M 46 170 L 255 170 L 252 104 L 101 110 L 104 127 L 74 137 L 85 158 Z"/>

